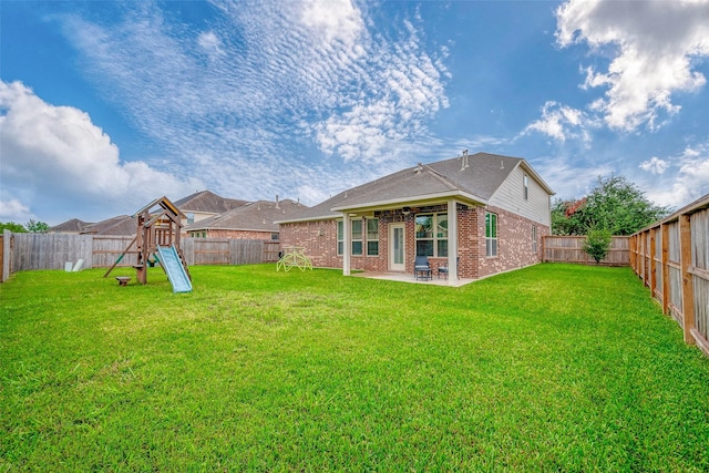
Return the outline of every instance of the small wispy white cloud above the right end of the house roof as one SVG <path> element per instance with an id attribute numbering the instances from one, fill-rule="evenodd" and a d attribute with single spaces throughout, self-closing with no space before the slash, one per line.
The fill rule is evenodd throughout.
<path id="1" fill-rule="evenodd" d="M 588 143 L 590 142 L 589 128 L 597 125 L 597 122 L 587 113 L 548 101 L 542 106 L 542 117 L 528 124 L 522 135 L 540 132 L 559 142 L 579 138 Z"/>

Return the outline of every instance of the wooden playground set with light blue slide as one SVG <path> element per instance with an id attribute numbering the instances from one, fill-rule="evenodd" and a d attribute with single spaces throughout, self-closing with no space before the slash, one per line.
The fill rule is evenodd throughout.
<path id="1" fill-rule="evenodd" d="M 179 248 L 179 233 L 184 214 L 167 197 L 161 197 L 137 210 L 133 217 L 137 217 L 135 238 L 103 277 L 107 277 L 135 245 L 137 263 L 133 267 L 135 268 L 135 279 L 140 284 L 147 282 L 147 267 L 160 264 L 173 286 L 173 292 L 192 291 L 192 276 L 189 276 L 184 253 Z M 116 279 L 121 286 L 125 286 L 130 280 L 130 278 L 121 276 Z"/>

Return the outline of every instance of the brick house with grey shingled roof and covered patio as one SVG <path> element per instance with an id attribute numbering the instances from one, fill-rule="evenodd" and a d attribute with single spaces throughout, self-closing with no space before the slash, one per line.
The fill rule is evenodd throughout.
<path id="1" fill-rule="evenodd" d="M 523 158 L 464 152 L 282 218 L 280 243 L 302 247 L 314 266 L 342 268 L 345 275 L 413 275 L 414 257 L 422 255 L 434 275 L 449 267 L 479 279 L 542 260 L 552 195 Z"/>

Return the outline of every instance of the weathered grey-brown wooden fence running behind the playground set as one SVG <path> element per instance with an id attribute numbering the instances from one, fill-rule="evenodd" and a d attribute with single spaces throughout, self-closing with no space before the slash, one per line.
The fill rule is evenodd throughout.
<path id="1" fill-rule="evenodd" d="M 83 259 L 84 268 L 109 268 L 133 240 L 133 236 L 16 234 L 4 230 L 0 245 L 2 278 L 12 273 L 33 269 L 64 269 L 66 261 Z M 187 265 L 251 265 L 278 260 L 278 241 L 183 238 L 182 248 Z M 117 266 L 130 267 L 136 261 L 132 248 Z"/>

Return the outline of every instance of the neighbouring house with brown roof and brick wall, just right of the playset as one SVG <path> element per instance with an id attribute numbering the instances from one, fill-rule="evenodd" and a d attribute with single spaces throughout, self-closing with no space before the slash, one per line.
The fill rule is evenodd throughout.
<path id="1" fill-rule="evenodd" d="M 183 232 L 192 237 L 278 240 L 276 223 L 308 208 L 298 202 L 256 200 L 213 217 L 187 225 Z"/>

